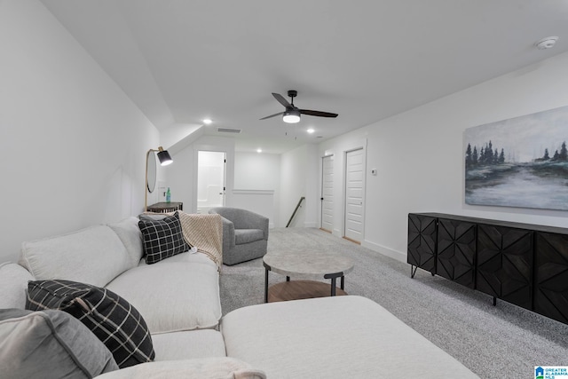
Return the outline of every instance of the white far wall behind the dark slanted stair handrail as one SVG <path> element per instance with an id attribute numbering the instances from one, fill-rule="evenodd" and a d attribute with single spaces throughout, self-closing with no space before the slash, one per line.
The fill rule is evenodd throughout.
<path id="1" fill-rule="evenodd" d="M 304 145 L 281 155 L 280 217 L 278 226 L 286 226 L 302 196 L 304 205 L 290 226 L 317 227 L 318 224 L 318 150 Z M 318 176 L 319 175 L 319 176 Z"/>

